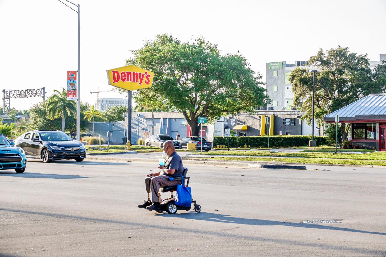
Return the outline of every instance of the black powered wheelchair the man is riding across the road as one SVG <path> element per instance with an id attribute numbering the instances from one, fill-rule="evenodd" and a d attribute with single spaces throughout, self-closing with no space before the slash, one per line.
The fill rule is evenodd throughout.
<path id="1" fill-rule="evenodd" d="M 184 167 L 184 172 L 182 173 L 182 176 L 177 176 L 177 177 L 173 177 L 173 178 L 169 178 L 169 179 L 174 180 L 174 181 L 183 180 L 184 186 L 185 186 L 185 181 L 187 181 L 186 186 L 188 186 L 190 177 L 187 177 L 186 173 L 188 173 L 188 168 Z M 150 180 L 151 180 L 151 177 L 145 178 L 147 200 L 149 202 L 151 202 L 150 201 Z M 162 200 L 162 202 L 161 202 L 161 208 L 162 209 L 158 210 L 157 212 L 159 212 L 159 213 L 168 212 L 169 214 L 174 214 L 177 212 L 177 210 L 186 210 L 186 211 L 190 210 L 190 207 L 179 206 L 174 202 L 174 200 L 176 200 L 176 199 L 173 196 L 173 192 L 176 190 L 177 190 L 177 186 L 165 186 L 165 187 L 161 187 L 159 189 L 160 193 L 165 193 L 165 192 L 170 191 L 171 196 L 170 196 L 170 198 Z M 197 204 L 196 200 L 192 199 L 192 203 L 194 205 L 195 212 L 201 212 L 201 206 Z"/>

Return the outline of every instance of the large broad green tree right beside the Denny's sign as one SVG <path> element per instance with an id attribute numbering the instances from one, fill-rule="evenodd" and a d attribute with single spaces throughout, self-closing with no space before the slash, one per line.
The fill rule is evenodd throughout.
<path id="1" fill-rule="evenodd" d="M 222 55 L 202 37 L 183 43 L 161 34 L 132 54 L 127 65 L 154 72 L 152 87 L 134 91 L 135 101 L 182 113 L 193 135 L 198 135 L 199 116 L 213 121 L 224 114 L 252 112 L 269 101 L 261 75 L 242 55 Z"/>

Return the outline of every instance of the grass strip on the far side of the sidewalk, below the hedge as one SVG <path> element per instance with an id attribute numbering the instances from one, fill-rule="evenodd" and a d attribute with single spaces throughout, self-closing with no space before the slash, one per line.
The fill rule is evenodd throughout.
<path id="1" fill-rule="evenodd" d="M 350 153 L 268 153 L 262 151 L 221 151 L 208 152 L 203 155 L 241 155 L 241 156 L 267 156 L 267 157 L 297 157 L 297 158 L 328 158 L 328 159 L 350 159 L 350 160 L 385 160 L 386 152 L 373 152 L 366 154 Z"/>

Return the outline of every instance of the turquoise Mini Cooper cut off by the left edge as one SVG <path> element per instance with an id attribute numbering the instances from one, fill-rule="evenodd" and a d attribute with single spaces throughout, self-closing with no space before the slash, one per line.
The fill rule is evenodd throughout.
<path id="1" fill-rule="evenodd" d="M 24 150 L 14 145 L 14 142 L 10 143 L 3 134 L 0 134 L 0 170 L 15 169 L 17 173 L 22 173 L 27 166 L 27 158 Z"/>

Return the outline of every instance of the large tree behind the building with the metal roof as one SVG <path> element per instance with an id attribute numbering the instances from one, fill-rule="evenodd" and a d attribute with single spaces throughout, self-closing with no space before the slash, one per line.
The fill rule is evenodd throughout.
<path id="1" fill-rule="evenodd" d="M 384 92 L 382 77 L 374 74 L 367 55 L 355 54 L 347 47 L 323 51 L 310 58 L 310 68 L 315 72 L 315 120 L 323 124 L 323 116 L 332 113 L 368 94 Z M 382 67 L 381 67 L 382 68 Z M 379 69 L 381 69 L 379 68 Z M 303 119 L 307 124 L 312 120 L 312 72 L 297 67 L 289 75 L 294 92 L 294 105 L 305 111 Z M 344 124 L 343 124 L 344 131 Z"/>

